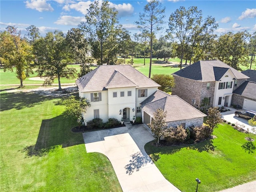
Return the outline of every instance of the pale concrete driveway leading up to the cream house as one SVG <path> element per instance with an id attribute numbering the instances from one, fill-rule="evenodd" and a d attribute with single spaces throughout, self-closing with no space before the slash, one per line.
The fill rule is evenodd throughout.
<path id="1" fill-rule="evenodd" d="M 87 152 L 108 157 L 124 192 L 180 192 L 168 182 L 144 150 L 154 138 L 143 124 L 83 133 Z"/>

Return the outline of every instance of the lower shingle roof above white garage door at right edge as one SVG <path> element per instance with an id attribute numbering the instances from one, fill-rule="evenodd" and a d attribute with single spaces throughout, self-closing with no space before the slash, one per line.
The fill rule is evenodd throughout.
<path id="1" fill-rule="evenodd" d="M 244 97 L 256 99 L 256 82 L 246 81 L 233 92 Z"/>

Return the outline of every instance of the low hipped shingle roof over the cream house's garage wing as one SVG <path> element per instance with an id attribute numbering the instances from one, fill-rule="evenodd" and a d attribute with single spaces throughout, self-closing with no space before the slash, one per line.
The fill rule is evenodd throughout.
<path id="1" fill-rule="evenodd" d="M 149 102 L 142 106 L 142 109 L 150 116 L 153 116 L 158 108 L 166 111 L 166 122 L 202 118 L 206 116 L 206 114 L 200 112 L 176 95 L 166 96 L 158 91 L 153 95 L 155 95 L 155 97 L 153 96 L 154 98 L 159 98 L 160 96 L 162 96 L 162 98 L 158 100 L 153 99 L 152 102 L 148 100 Z"/>

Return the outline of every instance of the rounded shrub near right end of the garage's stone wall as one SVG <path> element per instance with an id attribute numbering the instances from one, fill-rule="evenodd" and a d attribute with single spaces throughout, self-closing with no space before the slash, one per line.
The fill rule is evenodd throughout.
<path id="1" fill-rule="evenodd" d="M 209 126 L 200 126 L 191 128 L 192 137 L 196 142 L 210 138 L 212 129 Z"/>

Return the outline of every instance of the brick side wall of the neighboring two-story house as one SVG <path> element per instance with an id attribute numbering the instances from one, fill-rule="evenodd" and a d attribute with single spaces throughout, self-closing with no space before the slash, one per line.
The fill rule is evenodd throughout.
<path id="1" fill-rule="evenodd" d="M 172 88 L 172 95 L 177 95 L 189 104 L 192 104 L 192 99 L 196 100 L 194 107 L 200 107 L 202 100 L 205 97 L 210 97 L 210 106 L 213 104 L 215 82 L 210 82 L 210 89 L 206 89 L 207 82 L 199 82 L 188 78 L 173 76 L 175 87 Z"/>

